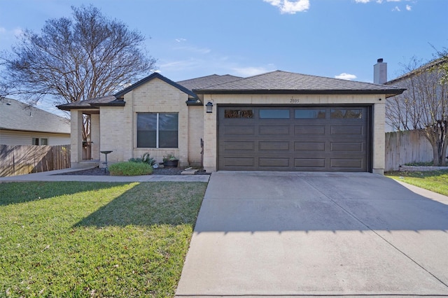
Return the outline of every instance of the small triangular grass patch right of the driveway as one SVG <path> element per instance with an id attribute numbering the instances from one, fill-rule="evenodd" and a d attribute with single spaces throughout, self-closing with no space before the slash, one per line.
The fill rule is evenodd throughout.
<path id="1" fill-rule="evenodd" d="M 386 176 L 448 196 L 448 171 L 394 171 Z"/>

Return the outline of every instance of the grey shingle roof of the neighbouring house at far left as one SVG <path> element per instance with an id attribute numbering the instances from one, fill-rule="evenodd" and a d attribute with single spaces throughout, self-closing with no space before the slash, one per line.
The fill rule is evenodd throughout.
<path id="1" fill-rule="evenodd" d="M 70 122 L 40 108 L 5 98 L 0 101 L 0 129 L 70 134 Z"/>

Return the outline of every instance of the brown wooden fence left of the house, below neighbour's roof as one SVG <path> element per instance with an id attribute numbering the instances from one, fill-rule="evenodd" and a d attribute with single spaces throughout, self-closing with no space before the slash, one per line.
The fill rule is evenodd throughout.
<path id="1" fill-rule="evenodd" d="M 0 145 L 0 177 L 67 169 L 69 167 L 70 145 Z"/>

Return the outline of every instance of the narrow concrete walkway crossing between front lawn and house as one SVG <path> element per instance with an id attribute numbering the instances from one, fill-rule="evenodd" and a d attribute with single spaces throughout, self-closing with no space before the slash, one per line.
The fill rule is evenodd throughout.
<path id="1" fill-rule="evenodd" d="M 62 169 L 20 176 L 0 177 L 0 183 L 31 181 L 85 181 L 85 182 L 209 182 L 210 175 L 144 175 L 144 176 L 81 176 L 57 175 L 80 169 Z"/>

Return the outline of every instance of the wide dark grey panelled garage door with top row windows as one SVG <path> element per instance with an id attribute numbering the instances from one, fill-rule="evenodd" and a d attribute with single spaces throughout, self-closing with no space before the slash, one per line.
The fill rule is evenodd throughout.
<path id="1" fill-rule="evenodd" d="M 371 171 L 369 106 L 220 106 L 218 170 Z"/>

